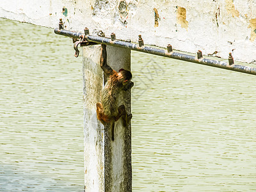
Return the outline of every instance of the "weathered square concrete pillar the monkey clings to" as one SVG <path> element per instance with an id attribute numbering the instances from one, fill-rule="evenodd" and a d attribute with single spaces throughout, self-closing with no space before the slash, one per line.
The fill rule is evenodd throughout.
<path id="1" fill-rule="evenodd" d="M 131 51 L 107 46 L 108 65 L 118 71 L 131 70 Z M 84 188 L 85 191 L 132 191 L 131 125 L 115 122 L 115 140 L 109 127 L 104 127 L 96 115 L 103 88 L 103 72 L 99 65 L 100 45 L 83 47 L 84 106 Z M 120 93 L 118 106 L 125 105 L 131 113 L 131 92 Z"/>

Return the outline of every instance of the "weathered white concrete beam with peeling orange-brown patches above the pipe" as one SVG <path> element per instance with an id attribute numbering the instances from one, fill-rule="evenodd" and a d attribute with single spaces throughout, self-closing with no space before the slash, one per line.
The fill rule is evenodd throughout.
<path id="1" fill-rule="evenodd" d="M 141 0 L 9 0 L 0 17 L 55 28 L 63 18 L 67 29 L 102 30 L 107 36 L 145 44 L 256 63 L 256 1 Z"/>

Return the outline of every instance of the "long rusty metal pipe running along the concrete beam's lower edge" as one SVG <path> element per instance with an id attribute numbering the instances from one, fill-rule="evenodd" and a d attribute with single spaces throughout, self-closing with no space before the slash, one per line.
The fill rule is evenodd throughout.
<path id="1" fill-rule="evenodd" d="M 232 62 L 231 62 L 232 65 L 229 65 L 229 63 L 226 63 L 224 61 L 210 60 L 210 59 L 202 58 L 202 57 L 198 58 L 197 56 L 191 56 L 191 55 L 182 54 L 179 52 L 168 52 L 167 50 L 157 49 L 154 47 L 147 47 L 144 45 L 140 47 L 140 45 L 132 44 L 131 42 L 124 42 L 122 40 L 111 40 L 111 38 L 106 38 L 106 37 L 101 37 L 101 36 L 93 36 L 93 35 L 85 35 L 84 36 L 82 33 L 76 33 L 76 32 L 72 32 L 72 31 L 55 29 L 54 32 L 59 35 L 71 36 L 73 38 L 81 38 L 83 36 L 84 40 L 86 40 L 88 42 L 95 42 L 98 44 L 106 44 L 106 45 L 111 45 L 111 46 L 120 47 L 120 48 L 124 48 L 124 49 L 131 49 L 133 51 L 140 51 L 140 52 L 146 52 L 149 54 L 156 54 L 158 56 L 173 58 L 175 60 L 189 61 L 192 63 L 198 63 L 198 64 L 207 65 L 207 66 L 211 66 L 211 67 L 224 68 L 227 70 L 234 70 L 237 72 L 243 72 L 246 74 L 256 75 L 256 68 L 248 67 L 248 66 L 244 66 L 244 65 L 236 65 L 236 64 L 233 64 Z"/>

